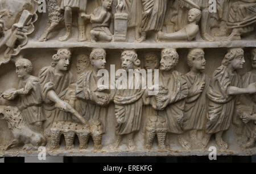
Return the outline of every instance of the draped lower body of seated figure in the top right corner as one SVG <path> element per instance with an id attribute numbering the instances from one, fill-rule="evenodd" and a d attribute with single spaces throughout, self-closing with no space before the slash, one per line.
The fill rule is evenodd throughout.
<path id="1" fill-rule="evenodd" d="M 243 0 L 233 2 L 227 26 L 232 33 L 224 40 L 241 40 L 241 35 L 255 30 L 256 0 Z"/>

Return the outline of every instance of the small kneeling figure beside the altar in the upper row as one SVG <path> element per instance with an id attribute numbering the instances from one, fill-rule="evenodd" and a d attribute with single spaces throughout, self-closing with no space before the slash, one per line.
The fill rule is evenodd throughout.
<path id="1" fill-rule="evenodd" d="M 112 41 L 112 33 L 109 31 L 110 23 L 112 20 L 113 0 L 102 0 L 102 6 L 94 10 L 93 14 L 81 16 L 85 19 L 90 19 L 92 23 L 92 30 L 90 31 L 90 41 Z"/>

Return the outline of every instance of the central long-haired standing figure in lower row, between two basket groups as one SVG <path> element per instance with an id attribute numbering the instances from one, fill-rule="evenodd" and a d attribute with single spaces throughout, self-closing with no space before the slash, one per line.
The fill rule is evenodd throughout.
<path id="1" fill-rule="evenodd" d="M 117 87 L 114 96 L 115 118 L 117 119 L 115 142 L 110 146 L 117 148 L 122 141 L 123 136 L 127 135 L 127 146 L 130 150 L 135 150 L 134 134 L 141 129 L 143 95 L 142 77 L 134 78 L 139 73 L 141 61 L 138 59 L 137 53 L 133 50 L 125 50 L 121 55 L 122 68 L 127 72 L 127 82 L 134 82 L 127 85 L 123 84 L 122 77 L 117 81 L 120 86 Z M 133 75 L 128 75 L 129 70 L 133 70 Z M 116 82 L 118 83 L 118 82 Z M 136 89 L 135 85 L 139 84 Z M 131 85 L 131 86 L 130 86 Z"/>

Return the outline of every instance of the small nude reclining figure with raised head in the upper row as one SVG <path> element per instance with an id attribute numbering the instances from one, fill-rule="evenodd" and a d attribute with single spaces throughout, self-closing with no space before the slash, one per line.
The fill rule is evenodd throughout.
<path id="1" fill-rule="evenodd" d="M 174 33 L 163 33 L 158 32 L 159 40 L 188 40 L 191 41 L 195 39 L 197 33 L 199 33 L 198 23 L 201 19 L 201 11 L 199 9 L 191 9 L 188 12 L 189 24 L 183 29 L 180 29 Z"/>

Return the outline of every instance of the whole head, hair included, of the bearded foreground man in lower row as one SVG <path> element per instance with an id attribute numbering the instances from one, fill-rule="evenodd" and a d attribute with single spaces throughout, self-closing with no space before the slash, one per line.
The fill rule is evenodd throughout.
<path id="1" fill-rule="evenodd" d="M 161 53 L 160 70 L 169 71 L 173 69 L 179 62 L 179 54 L 176 49 L 163 49 Z"/>

